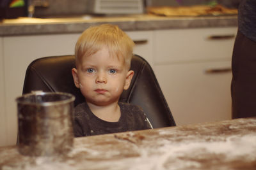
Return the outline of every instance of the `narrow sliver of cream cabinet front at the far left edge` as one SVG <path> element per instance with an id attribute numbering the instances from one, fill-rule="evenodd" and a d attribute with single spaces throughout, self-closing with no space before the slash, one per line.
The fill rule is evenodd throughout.
<path id="1" fill-rule="evenodd" d="M 4 104 L 3 38 L 0 38 L 0 146 L 6 143 L 6 115 Z"/>

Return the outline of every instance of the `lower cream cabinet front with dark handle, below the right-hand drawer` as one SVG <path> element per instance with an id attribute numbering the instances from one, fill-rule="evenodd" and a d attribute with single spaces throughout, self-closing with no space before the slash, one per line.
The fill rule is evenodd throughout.
<path id="1" fill-rule="evenodd" d="M 231 118 L 230 66 L 230 61 L 155 66 L 177 125 Z"/>

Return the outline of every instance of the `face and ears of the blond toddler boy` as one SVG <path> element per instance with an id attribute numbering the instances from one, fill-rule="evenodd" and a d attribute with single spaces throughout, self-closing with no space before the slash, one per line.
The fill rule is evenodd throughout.
<path id="1" fill-rule="evenodd" d="M 109 55 L 102 48 L 90 57 L 83 57 L 77 69 L 72 69 L 74 83 L 87 103 L 106 106 L 118 102 L 123 90 L 129 88 L 133 71 L 125 66 L 124 59 Z"/>

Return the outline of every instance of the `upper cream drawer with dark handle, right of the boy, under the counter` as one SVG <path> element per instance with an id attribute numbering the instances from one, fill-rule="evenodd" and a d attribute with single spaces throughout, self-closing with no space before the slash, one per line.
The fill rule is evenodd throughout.
<path id="1" fill-rule="evenodd" d="M 237 27 L 156 31 L 156 64 L 230 59 Z"/>

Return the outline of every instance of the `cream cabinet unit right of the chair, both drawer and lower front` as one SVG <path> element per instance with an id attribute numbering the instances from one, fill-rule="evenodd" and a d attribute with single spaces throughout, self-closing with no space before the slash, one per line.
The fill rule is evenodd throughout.
<path id="1" fill-rule="evenodd" d="M 236 27 L 154 32 L 154 71 L 177 125 L 231 118 Z"/>

